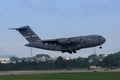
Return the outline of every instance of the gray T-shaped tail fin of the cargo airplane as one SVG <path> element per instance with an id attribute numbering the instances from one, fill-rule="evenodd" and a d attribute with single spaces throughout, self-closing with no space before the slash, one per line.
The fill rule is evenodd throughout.
<path id="1" fill-rule="evenodd" d="M 23 26 L 20 28 L 13 28 L 19 31 L 27 41 L 29 42 L 36 42 L 40 41 L 41 39 L 32 31 L 32 29 L 29 26 Z"/>

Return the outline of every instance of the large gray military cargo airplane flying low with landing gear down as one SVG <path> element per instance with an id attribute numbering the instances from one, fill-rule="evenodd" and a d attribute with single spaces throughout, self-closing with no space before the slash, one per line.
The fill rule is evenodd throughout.
<path id="1" fill-rule="evenodd" d="M 25 37 L 25 39 L 29 42 L 25 46 L 52 51 L 61 51 L 62 53 L 68 52 L 72 54 L 76 53 L 80 49 L 96 46 L 100 46 L 99 48 L 101 49 L 101 45 L 106 42 L 106 39 L 100 35 L 41 40 L 29 26 L 10 29 L 19 31 Z"/>

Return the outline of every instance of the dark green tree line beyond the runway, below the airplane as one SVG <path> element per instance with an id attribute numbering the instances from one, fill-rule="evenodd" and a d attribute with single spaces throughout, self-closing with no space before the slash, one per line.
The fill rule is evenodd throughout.
<path id="1" fill-rule="evenodd" d="M 102 55 L 97 56 L 96 54 L 92 54 L 87 58 L 78 57 L 76 59 L 69 59 L 69 60 L 65 60 L 63 57 L 59 56 L 56 60 L 46 60 L 44 62 L 22 61 L 22 62 L 16 62 L 15 64 L 0 63 L 0 71 L 75 69 L 75 68 L 89 68 L 91 65 L 100 66 L 102 68 L 119 68 L 120 51 L 114 54 L 109 54 L 107 57 L 102 57 Z"/>

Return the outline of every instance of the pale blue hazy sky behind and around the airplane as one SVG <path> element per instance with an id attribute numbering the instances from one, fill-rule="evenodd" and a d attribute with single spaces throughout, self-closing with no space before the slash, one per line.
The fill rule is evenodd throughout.
<path id="1" fill-rule="evenodd" d="M 8 28 L 29 25 L 41 39 L 98 34 L 107 39 L 96 54 L 120 50 L 120 0 L 0 0 L 0 55 L 30 56 L 28 43 Z M 86 57 L 93 48 L 77 54 L 33 49 L 33 55 Z"/>

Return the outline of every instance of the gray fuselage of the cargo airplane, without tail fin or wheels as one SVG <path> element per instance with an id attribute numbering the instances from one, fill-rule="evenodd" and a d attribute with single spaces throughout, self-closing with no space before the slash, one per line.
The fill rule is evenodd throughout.
<path id="1" fill-rule="evenodd" d="M 99 35 L 79 36 L 71 38 L 60 38 L 58 40 L 69 39 L 71 42 L 66 44 L 60 43 L 44 43 L 44 41 L 32 42 L 26 44 L 29 47 L 41 48 L 53 51 L 72 51 L 80 50 L 82 48 L 96 47 L 102 45 L 106 40 L 104 37 Z"/>

